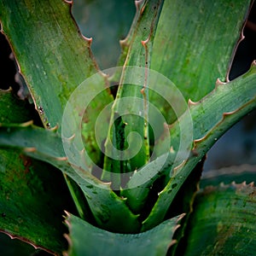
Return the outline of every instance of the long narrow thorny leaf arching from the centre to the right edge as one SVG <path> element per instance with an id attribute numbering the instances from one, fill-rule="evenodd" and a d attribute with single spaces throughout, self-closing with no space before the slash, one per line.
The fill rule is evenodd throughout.
<path id="1" fill-rule="evenodd" d="M 160 196 L 152 212 L 150 212 L 150 215 L 144 222 L 146 230 L 152 224 L 157 224 L 160 219 L 163 220 L 165 218 L 166 211 L 177 194 L 178 189 L 189 176 L 189 173 L 193 171 L 195 165 L 202 159 L 203 155 L 216 143 L 218 138 L 232 125 L 236 124 L 246 113 L 256 108 L 255 79 L 256 66 L 253 65 L 251 70 L 239 79 L 231 81 L 229 84 L 218 85 L 212 94 L 191 106 L 190 113 L 193 119 L 195 139 L 194 144 L 191 146 L 191 154 L 179 166 L 173 165 L 170 172 L 171 179 L 166 177 L 166 180 L 169 179 L 169 182 L 166 184 L 165 189 L 160 191 Z M 222 96 L 217 96 L 218 93 Z M 236 102 L 234 102 L 234 98 Z M 212 112 L 211 106 L 218 109 L 218 112 Z M 178 125 L 188 121 L 185 115 L 186 113 L 172 126 L 174 149 L 177 147 L 175 146 L 175 137 L 179 134 Z M 184 131 L 183 134 L 187 133 L 189 131 Z"/>

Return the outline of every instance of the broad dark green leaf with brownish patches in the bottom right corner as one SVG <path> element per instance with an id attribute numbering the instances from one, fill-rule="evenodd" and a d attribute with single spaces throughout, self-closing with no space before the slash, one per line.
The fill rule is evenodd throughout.
<path id="1" fill-rule="evenodd" d="M 196 195 L 183 255 L 254 255 L 256 188 L 232 183 Z"/>

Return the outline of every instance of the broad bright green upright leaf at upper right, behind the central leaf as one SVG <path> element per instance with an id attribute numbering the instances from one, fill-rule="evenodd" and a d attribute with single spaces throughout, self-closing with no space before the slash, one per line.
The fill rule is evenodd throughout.
<path id="1" fill-rule="evenodd" d="M 217 79 L 228 79 L 251 2 L 166 0 L 151 68 L 172 79 L 186 100 L 201 100 Z"/>

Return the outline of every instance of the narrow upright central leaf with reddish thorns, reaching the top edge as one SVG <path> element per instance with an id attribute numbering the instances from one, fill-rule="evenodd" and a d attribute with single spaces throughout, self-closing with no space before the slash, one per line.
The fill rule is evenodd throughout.
<path id="1" fill-rule="evenodd" d="M 125 156 L 122 158 L 127 157 L 128 160 L 120 161 L 106 157 L 104 169 L 108 172 L 131 172 L 144 166 L 149 160 L 148 74 L 145 71 L 143 75 L 141 74 L 141 78 L 138 78 L 142 82 L 141 84 L 130 84 L 127 81 L 129 79 L 131 80 L 129 76 L 136 76 L 137 74 L 126 72 L 125 67 L 149 66 L 150 55 L 148 55 L 148 52 L 152 48 L 161 4 L 162 1 L 160 0 L 144 2 L 140 16 L 138 18 L 136 17 L 137 24 L 133 27 L 133 32 L 131 32 L 131 43 L 125 59 L 124 71 L 119 82 L 119 90 L 115 102 L 113 103 L 110 124 L 114 124 L 115 127 L 113 129 L 110 126 L 108 138 L 105 143 L 106 153 L 108 155 L 111 154 L 113 141 L 115 142 L 113 146 L 121 150 L 121 156 Z M 125 114 L 125 112 L 128 113 Z M 127 142 L 128 136 L 129 141 Z M 138 136 L 143 139 L 138 139 Z M 134 152 L 137 153 L 134 155 Z M 107 175 L 108 172 L 103 173 L 103 178 L 111 180 L 111 177 Z M 116 187 L 115 189 L 119 189 L 120 185 L 124 184 L 120 184 L 120 181 L 115 181 L 115 183 L 117 183 L 113 183 Z"/>

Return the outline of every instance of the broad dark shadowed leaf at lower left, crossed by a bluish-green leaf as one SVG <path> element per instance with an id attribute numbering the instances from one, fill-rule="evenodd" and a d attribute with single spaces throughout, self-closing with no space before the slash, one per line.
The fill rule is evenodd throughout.
<path id="1" fill-rule="evenodd" d="M 1 122 L 28 121 L 32 118 L 28 109 L 11 90 L 0 91 Z M 0 231 L 61 253 L 67 247 L 61 216 L 70 206 L 65 181 L 55 167 L 12 148 L 0 149 Z"/>

